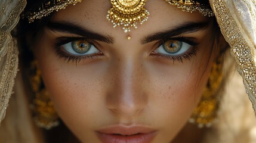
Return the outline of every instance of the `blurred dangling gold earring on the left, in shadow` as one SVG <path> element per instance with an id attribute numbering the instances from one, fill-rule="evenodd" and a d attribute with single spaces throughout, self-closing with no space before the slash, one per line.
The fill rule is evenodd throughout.
<path id="1" fill-rule="evenodd" d="M 58 125 L 58 115 L 42 82 L 38 61 L 31 63 L 30 74 L 32 75 L 30 85 L 35 96 L 33 99 L 33 119 L 39 127 L 51 129 Z"/>

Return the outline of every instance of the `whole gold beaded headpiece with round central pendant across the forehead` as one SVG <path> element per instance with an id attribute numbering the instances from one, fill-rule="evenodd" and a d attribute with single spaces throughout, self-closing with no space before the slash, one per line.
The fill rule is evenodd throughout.
<path id="1" fill-rule="evenodd" d="M 62 10 L 69 4 L 75 5 L 82 0 L 45 0 L 39 7 L 29 8 L 22 14 L 29 23 L 36 19 L 48 16 L 53 11 Z M 107 19 L 113 27 L 123 26 L 124 32 L 129 32 L 130 27 L 137 28 L 137 23 L 143 24 L 148 19 L 149 12 L 143 8 L 147 0 L 110 0 L 112 8 L 108 11 Z M 214 16 L 211 7 L 199 4 L 193 0 L 165 0 L 171 5 L 181 8 L 182 11 L 199 11 L 204 16 Z"/>

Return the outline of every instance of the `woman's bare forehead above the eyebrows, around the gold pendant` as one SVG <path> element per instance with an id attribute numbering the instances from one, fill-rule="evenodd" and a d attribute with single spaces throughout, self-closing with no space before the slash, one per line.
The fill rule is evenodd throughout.
<path id="1" fill-rule="evenodd" d="M 66 9 L 58 11 L 53 21 L 69 21 L 76 23 L 96 33 L 103 35 L 126 35 L 122 27 L 113 28 L 113 24 L 107 21 L 107 11 L 112 8 L 110 1 L 106 0 L 83 0 L 76 5 L 69 5 Z M 150 15 L 149 20 L 138 29 L 131 29 L 130 34 L 140 36 L 149 35 L 177 27 L 179 23 L 187 21 L 199 22 L 207 21 L 208 17 L 203 17 L 198 12 L 186 13 L 175 6 L 169 5 L 164 0 L 147 0 L 144 6 Z"/>

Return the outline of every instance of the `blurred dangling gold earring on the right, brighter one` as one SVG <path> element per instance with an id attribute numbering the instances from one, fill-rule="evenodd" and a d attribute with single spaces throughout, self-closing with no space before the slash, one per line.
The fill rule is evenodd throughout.
<path id="1" fill-rule="evenodd" d="M 203 91 L 198 107 L 189 119 L 190 123 L 196 123 L 199 128 L 210 127 L 217 117 L 221 83 L 223 82 L 223 56 L 217 58 L 212 65 L 211 73 L 206 88 Z"/>

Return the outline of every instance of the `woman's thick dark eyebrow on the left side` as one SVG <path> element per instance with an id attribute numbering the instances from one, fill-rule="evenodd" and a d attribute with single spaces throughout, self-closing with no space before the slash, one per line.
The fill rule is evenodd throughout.
<path id="1" fill-rule="evenodd" d="M 97 41 L 106 42 L 106 43 L 114 43 L 114 39 L 110 36 L 100 35 L 98 33 L 90 32 L 90 30 L 84 29 L 82 26 L 78 24 L 70 23 L 67 21 L 50 21 L 47 24 L 47 28 L 56 32 L 64 32 L 75 35 L 80 35 L 85 38 L 95 39 Z"/>

